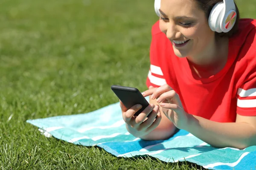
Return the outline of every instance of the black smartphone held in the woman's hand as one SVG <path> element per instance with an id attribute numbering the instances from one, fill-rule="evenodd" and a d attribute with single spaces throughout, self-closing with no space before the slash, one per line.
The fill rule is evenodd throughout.
<path id="1" fill-rule="evenodd" d="M 149 105 L 148 101 L 137 88 L 112 85 L 111 89 L 127 109 L 130 109 L 132 106 L 137 104 L 142 105 L 142 108 L 139 111 L 137 111 L 134 114 L 134 116 L 138 116 Z M 149 116 L 150 113 L 148 114 L 147 117 Z"/>

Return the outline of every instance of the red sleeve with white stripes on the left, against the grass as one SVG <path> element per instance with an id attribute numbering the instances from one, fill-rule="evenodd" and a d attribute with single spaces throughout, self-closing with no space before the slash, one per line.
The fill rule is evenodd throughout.
<path id="1" fill-rule="evenodd" d="M 156 23 L 157 24 L 157 23 Z M 161 85 L 166 84 L 166 79 L 163 75 L 163 68 L 160 65 L 159 57 L 161 53 L 159 52 L 159 38 L 157 37 L 157 34 L 154 34 L 156 32 L 154 29 L 156 29 L 156 26 L 154 25 L 152 27 L 152 40 L 150 45 L 150 67 L 148 71 L 148 77 L 146 80 L 146 85 L 153 86 L 153 87 L 160 87 Z M 159 29 L 159 28 L 158 28 Z"/>

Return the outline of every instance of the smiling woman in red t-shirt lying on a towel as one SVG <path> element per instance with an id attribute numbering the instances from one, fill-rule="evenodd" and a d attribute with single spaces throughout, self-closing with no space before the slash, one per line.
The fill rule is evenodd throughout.
<path id="1" fill-rule="evenodd" d="M 167 139 L 177 127 L 215 147 L 256 145 L 256 20 L 239 19 L 232 3 L 160 1 L 160 20 L 152 27 L 149 89 L 143 92 L 150 105 L 134 117 L 141 106 L 127 110 L 120 103 L 132 135 Z M 222 28 L 214 23 L 220 20 L 214 16 L 222 8 L 218 5 L 226 14 L 235 8 Z"/>

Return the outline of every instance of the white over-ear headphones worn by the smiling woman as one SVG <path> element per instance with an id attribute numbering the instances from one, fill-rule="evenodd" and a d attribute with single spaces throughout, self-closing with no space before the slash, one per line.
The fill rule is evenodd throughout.
<path id="1" fill-rule="evenodd" d="M 161 0 L 154 1 L 154 9 L 160 17 Z M 223 0 L 216 3 L 208 18 L 209 27 L 212 31 L 221 33 L 230 31 L 236 23 L 236 6 L 234 0 Z"/>

